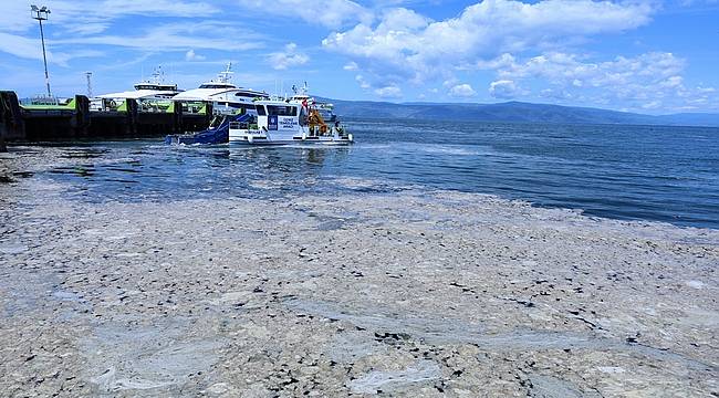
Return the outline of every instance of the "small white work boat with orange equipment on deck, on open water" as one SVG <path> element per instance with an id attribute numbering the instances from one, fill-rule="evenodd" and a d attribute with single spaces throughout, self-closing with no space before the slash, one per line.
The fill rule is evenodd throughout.
<path id="1" fill-rule="evenodd" d="M 316 106 L 311 105 L 311 98 L 260 100 L 254 106 L 257 124 L 230 123 L 230 144 L 347 145 L 354 142 L 338 121 L 325 123 Z"/>

